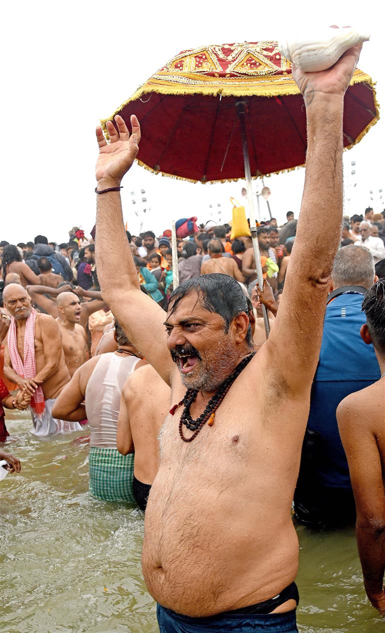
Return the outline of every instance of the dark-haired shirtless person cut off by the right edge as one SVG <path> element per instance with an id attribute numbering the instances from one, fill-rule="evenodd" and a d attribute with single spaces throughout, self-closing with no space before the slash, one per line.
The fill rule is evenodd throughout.
<path id="1" fill-rule="evenodd" d="M 357 511 L 356 537 L 364 586 L 385 615 L 385 283 L 377 281 L 362 303 L 361 337 L 373 344 L 381 378 L 338 406 L 339 434 L 349 465 Z"/>

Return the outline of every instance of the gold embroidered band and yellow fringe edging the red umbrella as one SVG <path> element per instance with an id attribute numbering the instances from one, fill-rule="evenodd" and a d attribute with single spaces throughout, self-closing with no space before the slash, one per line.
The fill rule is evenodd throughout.
<path id="1" fill-rule="evenodd" d="M 215 85 L 216 82 L 215 82 L 214 77 L 202 77 L 202 75 L 200 75 L 200 82 L 197 82 L 196 75 L 193 75 L 192 73 L 191 74 L 183 73 L 183 77 L 186 77 L 192 81 L 192 84 L 186 85 L 186 84 L 175 84 L 175 82 L 170 82 L 166 79 L 166 77 L 168 76 L 169 76 L 169 72 L 165 72 L 165 73 L 157 72 L 155 75 L 152 75 L 152 77 L 150 77 L 149 80 L 147 80 L 147 82 L 145 82 L 144 85 L 140 86 L 138 90 L 134 92 L 134 94 L 129 99 L 124 101 L 119 106 L 119 108 L 117 108 L 114 111 L 113 115 L 111 115 L 109 118 L 101 119 L 102 130 L 104 134 L 106 135 L 107 140 L 109 139 L 109 135 L 107 132 L 106 122 L 113 121 L 114 116 L 119 114 L 119 112 L 123 110 L 123 108 L 125 108 L 125 106 L 128 103 L 131 103 L 132 101 L 136 101 L 137 99 L 140 99 L 140 97 L 144 96 L 145 94 L 149 94 L 150 92 L 156 92 L 157 94 L 169 94 L 169 95 L 186 95 L 186 94 L 205 94 L 209 96 L 221 95 L 224 97 L 227 97 L 227 96 L 229 97 L 231 96 L 281 97 L 281 96 L 300 94 L 300 89 L 298 88 L 298 85 L 296 85 L 295 80 L 291 77 L 291 74 L 285 75 L 284 73 L 282 75 L 276 75 L 276 76 L 274 75 L 265 75 L 265 76 L 260 76 L 260 77 L 253 76 L 253 77 L 250 77 L 250 80 L 241 80 L 241 81 L 239 77 L 228 77 L 226 78 L 226 82 L 228 83 L 228 85 L 224 85 L 225 82 L 223 80 L 223 77 L 221 77 L 220 82 L 217 82 L 218 85 Z M 207 85 L 202 85 L 202 79 L 205 79 L 207 81 Z M 195 85 L 195 82 L 196 82 L 196 85 Z M 238 85 L 234 85 L 235 83 Z M 372 118 L 370 123 L 364 128 L 364 130 L 362 130 L 361 134 L 358 135 L 357 139 L 353 143 L 343 148 L 344 151 L 351 149 L 351 147 L 357 145 L 357 143 L 360 142 L 364 138 L 365 134 L 369 132 L 369 129 L 373 125 L 376 125 L 377 121 L 380 118 L 379 103 L 377 101 L 376 88 L 375 88 L 376 82 L 373 82 L 372 78 L 366 73 L 364 73 L 362 70 L 359 70 L 358 68 L 356 68 L 353 74 L 353 77 L 351 78 L 350 85 L 363 84 L 363 83 L 370 85 L 370 87 L 372 88 L 373 101 L 374 101 L 374 106 L 376 108 L 376 116 Z M 161 173 L 162 176 L 166 176 L 168 178 L 174 178 L 177 180 L 186 180 L 186 182 L 192 182 L 192 183 L 202 182 L 201 180 L 183 178 L 181 176 L 174 175 L 173 173 L 167 173 L 167 172 L 154 170 L 152 167 L 150 167 L 149 165 L 146 165 L 143 161 L 139 160 L 138 158 L 135 159 L 135 161 L 138 163 L 138 165 L 140 165 L 141 167 L 144 167 L 145 170 L 152 172 L 155 175 Z M 263 176 L 269 177 L 275 173 L 292 172 L 293 170 L 300 169 L 303 166 L 305 166 L 305 163 L 303 163 L 302 165 L 296 165 L 295 167 L 289 167 L 287 169 L 279 170 L 278 172 L 266 173 L 266 174 L 263 174 Z M 253 180 L 258 179 L 258 178 L 260 178 L 259 174 L 252 176 Z M 204 182 L 202 184 L 214 184 L 216 182 L 219 182 L 219 183 L 238 182 L 238 180 L 244 180 L 244 179 L 231 178 L 231 179 L 224 179 L 224 180 L 207 180 L 207 182 Z"/>

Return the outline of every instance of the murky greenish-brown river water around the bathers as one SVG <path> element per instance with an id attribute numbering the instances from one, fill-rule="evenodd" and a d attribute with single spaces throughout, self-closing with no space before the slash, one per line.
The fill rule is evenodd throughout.
<path id="1" fill-rule="evenodd" d="M 79 432 L 42 441 L 8 415 L 2 445 L 21 461 L 0 483 L 1 633 L 156 633 L 140 570 L 143 518 L 91 498 Z M 75 439 L 75 441 L 74 441 Z M 298 527 L 301 633 L 379 633 L 365 599 L 353 530 Z"/>

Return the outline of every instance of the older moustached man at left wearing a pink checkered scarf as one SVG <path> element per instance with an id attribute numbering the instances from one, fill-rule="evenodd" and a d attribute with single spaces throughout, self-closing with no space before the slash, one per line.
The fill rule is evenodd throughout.
<path id="1" fill-rule="evenodd" d="M 4 306 L 11 315 L 4 349 L 4 375 L 31 396 L 34 434 L 47 437 L 81 430 L 78 422 L 52 417 L 52 406 L 70 374 L 64 361 L 58 323 L 50 315 L 32 308 L 22 285 L 9 284 L 3 292 Z"/>

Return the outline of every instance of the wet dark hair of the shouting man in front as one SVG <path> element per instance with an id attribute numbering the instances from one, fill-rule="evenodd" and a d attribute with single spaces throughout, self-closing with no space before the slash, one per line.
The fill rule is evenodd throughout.
<path id="1" fill-rule="evenodd" d="M 197 293 L 197 303 L 200 303 L 205 310 L 216 313 L 223 318 L 226 332 L 229 331 L 231 321 L 241 312 L 248 315 L 247 300 L 240 284 L 233 277 L 222 273 L 201 275 L 178 285 L 169 300 L 169 314 L 173 315 L 181 300 L 192 292 Z M 250 348 L 253 347 L 250 325 L 245 342 Z"/>

